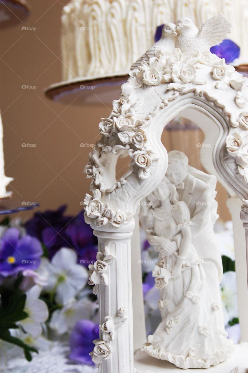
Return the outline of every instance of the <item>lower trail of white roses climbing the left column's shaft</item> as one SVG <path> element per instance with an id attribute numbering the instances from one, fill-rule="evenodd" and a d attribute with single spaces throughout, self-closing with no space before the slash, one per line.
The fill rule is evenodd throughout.
<path id="1" fill-rule="evenodd" d="M 90 353 L 92 361 L 99 366 L 103 360 L 108 360 L 112 354 L 111 342 L 114 340 L 114 329 L 122 326 L 126 320 L 126 308 L 120 307 L 117 312 L 118 316 L 112 319 L 110 316 L 106 316 L 103 320 L 103 324 L 99 325 L 102 333 L 102 339 L 95 339 L 93 341 L 95 347 Z"/>

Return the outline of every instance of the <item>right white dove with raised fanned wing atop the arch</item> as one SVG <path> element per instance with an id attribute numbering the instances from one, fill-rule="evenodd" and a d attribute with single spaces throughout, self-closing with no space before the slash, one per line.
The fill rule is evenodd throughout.
<path id="1" fill-rule="evenodd" d="M 205 52 L 214 45 L 220 44 L 229 34 L 231 27 L 231 23 L 223 14 L 208 19 L 200 31 L 191 18 L 180 18 L 176 25 L 178 33 L 176 46 L 182 52 Z"/>

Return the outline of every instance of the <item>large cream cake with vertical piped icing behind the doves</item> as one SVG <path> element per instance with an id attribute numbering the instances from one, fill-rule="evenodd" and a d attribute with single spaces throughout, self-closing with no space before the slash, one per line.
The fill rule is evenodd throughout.
<path id="1" fill-rule="evenodd" d="M 248 62 L 248 0 L 70 0 L 62 14 L 63 80 L 126 75 L 154 43 L 157 26 L 214 15 L 232 23 L 228 38 Z"/>

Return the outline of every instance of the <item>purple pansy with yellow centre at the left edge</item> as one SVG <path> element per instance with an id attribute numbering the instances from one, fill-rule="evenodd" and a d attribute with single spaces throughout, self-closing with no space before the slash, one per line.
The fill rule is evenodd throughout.
<path id="1" fill-rule="evenodd" d="M 10 228 L 0 239 L 0 275 L 9 276 L 24 269 L 37 269 L 42 254 L 37 238 L 23 236 L 20 231 Z"/>

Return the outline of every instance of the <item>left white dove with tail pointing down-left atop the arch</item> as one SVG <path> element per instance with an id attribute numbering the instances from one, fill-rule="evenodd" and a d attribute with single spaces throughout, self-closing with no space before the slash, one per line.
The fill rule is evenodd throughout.
<path id="1" fill-rule="evenodd" d="M 131 70 L 136 69 L 145 62 L 148 64 L 149 59 L 155 57 L 158 50 L 161 50 L 163 53 L 171 53 L 176 48 L 176 35 L 176 25 L 174 23 L 166 23 L 163 26 L 161 38 L 133 63 Z"/>

